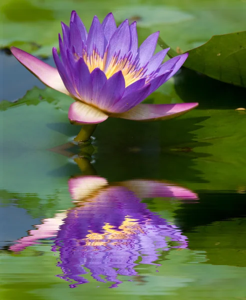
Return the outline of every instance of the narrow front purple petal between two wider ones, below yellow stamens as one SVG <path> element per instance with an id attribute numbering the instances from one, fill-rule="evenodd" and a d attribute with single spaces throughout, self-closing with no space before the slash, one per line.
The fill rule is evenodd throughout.
<path id="1" fill-rule="evenodd" d="M 100 101 L 101 89 L 107 81 L 107 77 L 98 67 L 93 69 L 90 75 L 92 79 L 92 103 L 97 106 Z"/>

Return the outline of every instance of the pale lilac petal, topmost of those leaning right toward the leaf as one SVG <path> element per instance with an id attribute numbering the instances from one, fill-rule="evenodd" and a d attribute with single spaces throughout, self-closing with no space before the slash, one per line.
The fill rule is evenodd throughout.
<path id="1" fill-rule="evenodd" d="M 153 56 L 158 36 L 159 36 L 159 31 L 154 32 L 151 35 L 149 35 L 140 45 L 138 49 L 140 66 L 146 64 Z"/>

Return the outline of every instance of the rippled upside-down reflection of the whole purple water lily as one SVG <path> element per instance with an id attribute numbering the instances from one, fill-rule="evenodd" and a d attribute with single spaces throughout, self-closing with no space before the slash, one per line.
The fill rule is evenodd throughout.
<path id="1" fill-rule="evenodd" d="M 86 269 L 94 279 L 113 282 L 111 287 L 115 287 L 121 282 L 117 275 L 137 275 L 137 259 L 141 258 L 139 263 L 153 264 L 159 250 L 186 247 L 186 237 L 180 229 L 148 210 L 138 195 L 195 199 L 191 191 L 148 180 L 108 185 L 98 176 L 71 178 L 68 185 L 78 205 L 67 210 L 65 217 L 62 213 L 53 220 L 44 220 L 11 250 L 18 251 L 38 238 L 53 236 L 52 250 L 59 251 L 57 265 L 63 272 L 57 276 L 75 280 L 70 287 L 88 282 L 81 277 Z"/>

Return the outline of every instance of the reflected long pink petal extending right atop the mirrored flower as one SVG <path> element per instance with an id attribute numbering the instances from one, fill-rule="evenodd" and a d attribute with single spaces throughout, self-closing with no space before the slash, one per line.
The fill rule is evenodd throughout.
<path id="1" fill-rule="evenodd" d="M 197 199 L 197 195 L 182 186 L 154 180 L 133 179 L 120 182 L 120 185 L 134 191 L 139 198 L 174 197 Z"/>

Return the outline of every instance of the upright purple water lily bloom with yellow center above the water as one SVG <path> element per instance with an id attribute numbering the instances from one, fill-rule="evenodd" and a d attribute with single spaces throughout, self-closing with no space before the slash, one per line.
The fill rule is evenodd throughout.
<path id="1" fill-rule="evenodd" d="M 44 84 L 76 101 L 70 105 L 71 123 L 97 124 L 110 117 L 133 120 L 168 119 L 183 114 L 198 103 L 139 104 L 181 67 L 188 54 L 162 63 L 167 51 L 154 54 L 159 32 L 138 47 L 136 22 L 118 27 L 112 13 L 102 23 L 94 16 L 87 30 L 75 11 L 70 26 L 61 23 L 61 60 L 56 48 L 56 68 L 11 47 L 12 54 Z"/>

